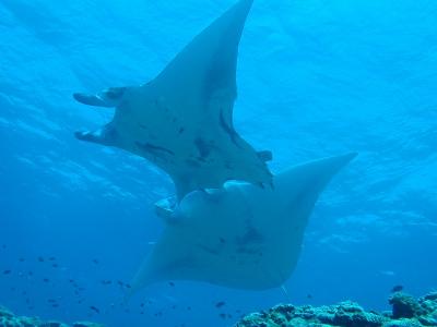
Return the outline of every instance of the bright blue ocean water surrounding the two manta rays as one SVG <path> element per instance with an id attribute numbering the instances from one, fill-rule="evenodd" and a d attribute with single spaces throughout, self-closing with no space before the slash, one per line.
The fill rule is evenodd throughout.
<path id="1" fill-rule="evenodd" d="M 139 157 L 76 141 L 113 111 L 71 94 L 154 77 L 234 2 L 0 1 L 0 304 L 107 326 L 229 326 L 279 302 L 383 310 L 394 284 L 437 287 L 437 2 L 256 0 L 236 129 L 273 152 L 274 172 L 359 156 L 317 203 L 287 296 L 176 282 L 122 303 L 117 281 L 160 237 L 153 203 L 174 189 Z"/>

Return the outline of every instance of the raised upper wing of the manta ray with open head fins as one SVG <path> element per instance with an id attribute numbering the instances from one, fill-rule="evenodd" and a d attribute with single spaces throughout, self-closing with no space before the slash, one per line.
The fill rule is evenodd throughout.
<path id="1" fill-rule="evenodd" d="M 238 45 L 253 0 L 243 0 L 199 34 L 154 83 L 198 117 L 214 114 L 233 129 Z M 220 108 L 216 102 L 221 104 Z M 214 112 L 211 113 L 210 110 Z M 187 113 L 187 112 L 182 112 Z"/>

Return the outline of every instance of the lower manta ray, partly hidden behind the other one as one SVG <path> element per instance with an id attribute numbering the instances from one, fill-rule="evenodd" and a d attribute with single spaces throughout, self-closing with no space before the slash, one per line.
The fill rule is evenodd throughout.
<path id="1" fill-rule="evenodd" d="M 165 229 L 132 282 L 132 291 L 165 280 L 197 280 L 229 288 L 280 287 L 299 257 L 308 217 L 349 154 L 291 168 L 274 189 L 226 183 L 194 191 L 177 207 L 156 204 Z"/>

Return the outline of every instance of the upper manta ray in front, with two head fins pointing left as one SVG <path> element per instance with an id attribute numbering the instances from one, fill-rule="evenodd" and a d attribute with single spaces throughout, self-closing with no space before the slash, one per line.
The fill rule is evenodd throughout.
<path id="1" fill-rule="evenodd" d="M 235 4 L 151 82 L 74 94 L 82 104 L 116 108 L 111 122 L 76 137 L 152 161 L 172 177 L 179 199 L 228 180 L 271 184 L 271 153 L 256 152 L 233 125 L 238 44 L 251 4 Z"/>

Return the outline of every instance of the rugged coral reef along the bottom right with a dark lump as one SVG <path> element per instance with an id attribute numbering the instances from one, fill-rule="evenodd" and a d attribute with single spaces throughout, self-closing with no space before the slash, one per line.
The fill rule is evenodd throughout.
<path id="1" fill-rule="evenodd" d="M 397 292 L 389 298 L 391 312 L 365 311 L 353 302 L 314 307 L 276 305 L 244 317 L 234 327 L 422 327 L 437 326 L 437 292 L 420 299 Z"/>

